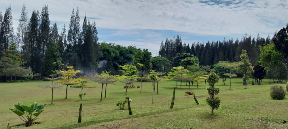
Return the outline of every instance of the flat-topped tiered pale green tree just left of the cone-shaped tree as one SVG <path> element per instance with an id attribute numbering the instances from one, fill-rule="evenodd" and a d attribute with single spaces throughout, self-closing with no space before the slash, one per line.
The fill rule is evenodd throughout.
<path id="1" fill-rule="evenodd" d="M 224 67 L 225 69 L 228 69 L 229 72 L 228 73 L 223 73 L 224 76 L 228 76 L 230 77 L 230 87 L 229 89 L 231 89 L 231 82 L 232 82 L 232 77 L 236 77 L 237 75 L 234 73 L 236 67 L 238 67 L 241 62 L 228 62 L 228 61 L 219 61 L 219 66 Z"/>

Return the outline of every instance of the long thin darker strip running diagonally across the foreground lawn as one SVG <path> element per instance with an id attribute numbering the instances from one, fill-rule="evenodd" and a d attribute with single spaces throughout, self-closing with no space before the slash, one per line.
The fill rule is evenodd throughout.
<path id="1" fill-rule="evenodd" d="M 62 127 L 59 127 L 58 129 L 80 128 L 80 127 L 85 127 L 85 126 L 89 126 L 89 125 L 97 124 L 97 123 L 101 123 L 101 122 L 110 122 L 110 121 L 114 121 L 114 120 L 139 118 L 139 117 L 144 117 L 144 116 L 150 116 L 150 115 L 174 112 L 174 111 L 178 111 L 178 110 L 185 110 L 185 109 L 188 109 L 188 108 L 190 108 L 190 107 L 173 108 L 173 109 L 161 110 L 161 111 L 157 111 L 157 112 L 149 112 L 149 113 L 143 113 L 143 114 L 134 114 L 134 115 L 129 115 L 129 116 L 123 116 L 123 117 L 119 117 L 119 118 L 88 121 L 88 122 L 72 124 L 72 125 L 69 125 L 69 126 L 62 126 Z M 128 112 L 127 112 L 127 114 L 128 114 Z"/>

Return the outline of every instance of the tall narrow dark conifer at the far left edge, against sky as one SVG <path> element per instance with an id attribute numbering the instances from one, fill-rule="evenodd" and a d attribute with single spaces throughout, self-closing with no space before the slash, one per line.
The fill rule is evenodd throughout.
<path id="1" fill-rule="evenodd" d="M 1 17 L 2 18 L 2 17 Z M 11 5 L 6 8 L 0 28 L 0 51 L 8 49 L 8 44 L 13 40 L 13 23 Z"/>

